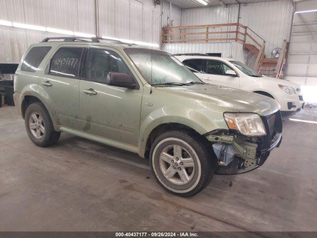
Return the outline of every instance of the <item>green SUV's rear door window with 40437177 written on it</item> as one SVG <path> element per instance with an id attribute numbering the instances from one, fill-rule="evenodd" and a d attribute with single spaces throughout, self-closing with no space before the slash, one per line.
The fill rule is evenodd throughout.
<path id="1" fill-rule="evenodd" d="M 78 77 L 82 52 L 83 48 L 60 48 L 51 60 L 50 74 L 68 78 Z"/>

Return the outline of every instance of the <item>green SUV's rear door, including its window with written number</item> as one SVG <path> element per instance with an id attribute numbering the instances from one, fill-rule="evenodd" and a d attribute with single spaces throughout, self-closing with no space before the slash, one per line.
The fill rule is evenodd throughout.
<path id="1" fill-rule="evenodd" d="M 56 123 L 74 129 L 79 128 L 78 88 L 83 53 L 83 47 L 59 47 L 38 87 Z"/>

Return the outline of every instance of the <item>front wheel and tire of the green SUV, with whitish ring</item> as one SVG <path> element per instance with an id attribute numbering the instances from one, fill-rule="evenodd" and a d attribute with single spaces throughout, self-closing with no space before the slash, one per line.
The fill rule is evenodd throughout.
<path id="1" fill-rule="evenodd" d="M 211 182 L 216 160 L 211 145 L 199 135 L 187 130 L 167 131 L 151 147 L 150 166 L 165 190 L 188 197 Z"/>

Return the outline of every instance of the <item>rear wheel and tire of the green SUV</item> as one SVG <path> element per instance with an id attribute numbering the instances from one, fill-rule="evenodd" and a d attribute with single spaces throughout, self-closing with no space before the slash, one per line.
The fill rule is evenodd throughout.
<path id="1" fill-rule="evenodd" d="M 25 112 L 25 128 L 34 144 L 47 147 L 55 144 L 60 132 L 54 130 L 49 112 L 42 103 L 32 103 Z"/>

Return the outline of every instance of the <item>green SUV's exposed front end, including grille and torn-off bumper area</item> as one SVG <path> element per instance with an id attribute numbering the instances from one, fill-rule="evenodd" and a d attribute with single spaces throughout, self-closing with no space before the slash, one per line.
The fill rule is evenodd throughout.
<path id="1" fill-rule="evenodd" d="M 216 130 L 206 134 L 218 159 L 215 174 L 244 174 L 262 166 L 282 141 L 282 117 L 279 111 L 261 117 L 266 135 L 246 137 L 237 131 Z"/>

